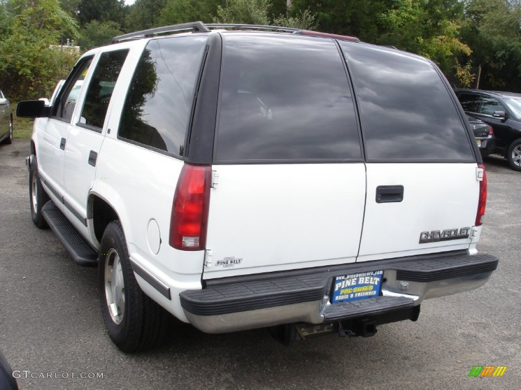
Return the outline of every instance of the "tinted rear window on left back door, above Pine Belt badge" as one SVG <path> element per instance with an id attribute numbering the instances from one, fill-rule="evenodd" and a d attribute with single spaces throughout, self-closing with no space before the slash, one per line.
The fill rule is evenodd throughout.
<path id="1" fill-rule="evenodd" d="M 214 160 L 361 159 L 348 79 L 333 41 L 226 36 Z"/>

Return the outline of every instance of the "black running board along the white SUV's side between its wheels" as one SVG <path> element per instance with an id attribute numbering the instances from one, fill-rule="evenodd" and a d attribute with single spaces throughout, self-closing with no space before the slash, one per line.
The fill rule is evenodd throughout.
<path id="1" fill-rule="evenodd" d="M 85 241 L 52 200 L 42 207 L 42 215 L 76 263 L 85 267 L 97 267 L 97 250 Z"/>

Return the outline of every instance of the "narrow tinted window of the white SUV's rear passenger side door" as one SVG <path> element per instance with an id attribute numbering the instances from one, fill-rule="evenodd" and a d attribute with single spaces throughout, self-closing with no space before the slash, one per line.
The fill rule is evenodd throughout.
<path id="1" fill-rule="evenodd" d="M 127 54 L 128 50 L 119 50 L 101 55 L 86 92 L 80 123 L 103 127 L 108 103 Z"/>

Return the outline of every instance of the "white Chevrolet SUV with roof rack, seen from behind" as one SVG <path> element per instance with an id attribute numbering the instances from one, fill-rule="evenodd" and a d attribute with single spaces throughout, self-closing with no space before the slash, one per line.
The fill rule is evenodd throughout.
<path id="1" fill-rule="evenodd" d="M 17 113 L 41 118 L 33 221 L 98 266 L 126 352 L 157 342 L 166 311 L 209 333 L 373 335 L 498 264 L 476 251 L 472 130 L 416 55 L 195 22 L 88 51 L 51 107 Z"/>

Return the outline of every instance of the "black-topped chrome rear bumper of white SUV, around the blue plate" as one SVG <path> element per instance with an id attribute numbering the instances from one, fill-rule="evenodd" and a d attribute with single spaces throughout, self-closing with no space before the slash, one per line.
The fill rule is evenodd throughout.
<path id="1" fill-rule="evenodd" d="M 180 299 L 190 323 L 207 333 L 392 317 L 393 312 L 412 309 L 424 299 L 476 289 L 497 266 L 494 256 L 458 251 L 209 280 L 203 290 L 183 291 Z M 334 277 L 376 270 L 383 270 L 380 296 L 330 303 Z"/>

